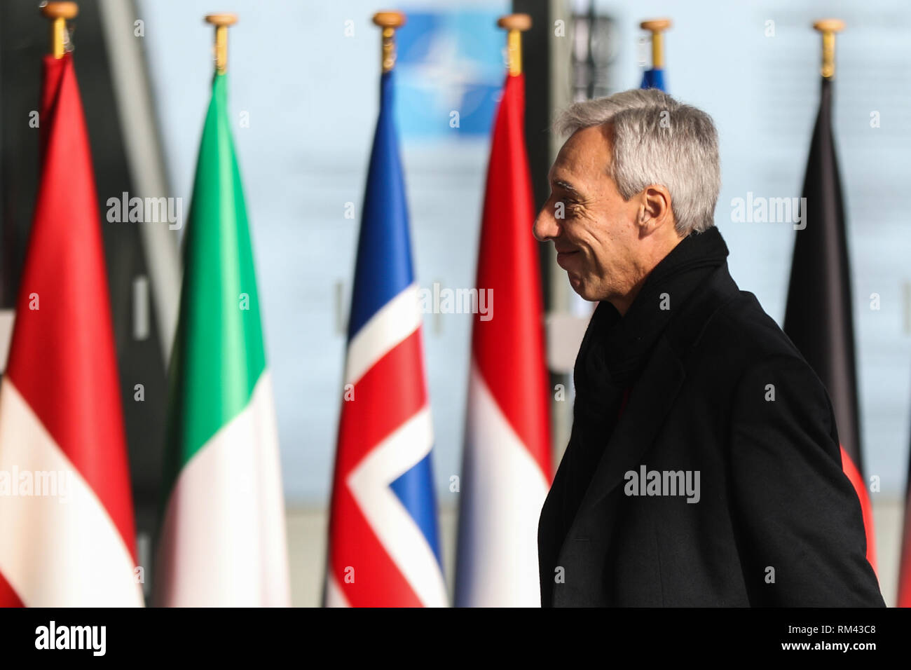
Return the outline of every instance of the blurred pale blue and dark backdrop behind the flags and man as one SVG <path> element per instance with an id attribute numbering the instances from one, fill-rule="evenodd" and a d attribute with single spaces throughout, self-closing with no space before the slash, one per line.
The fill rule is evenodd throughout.
<path id="1" fill-rule="evenodd" d="M 215 10 L 240 15 L 230 31 L 229 103 L 274 380 L 295 605 L 316 605 L 322 592 L 344 332 L 378 109 L 380 36 L 371 16 L 383 8 L 367 0 L 82 0 L 72 34 L 101 211 L 108 198 L 128 191 L 182 198 L 186 213 L 212 74 L 211 29 L 202 17 Z M 820 40 L 810 26 L 826 15 L 844 18 L 834 131 L 853 273 L 862 448 L 866 476 L 881 481 L 871 493 L 878 573 L 886 603 L 894 603 L 911 418 L 911 227 L 902 205 L 911 176 L 911 6 L 426 0 L 395 8 L 408 15 L 397 33 L 395 115 L 421 287 L 474 285 L 489 131 L 505 77 L 505 35 L 496 17 L 519 11 L 534 21 L 524 36 L 526 124 L 540 204 L 559 147 L 549 132 L 554 112 L 574 99 L 637 88 L 650 54 L 639 22 L 668 15 L 668 91 L 709 112 L 721 136 L 716 222 L 731 249 L 732 275 L 780 325 L 793 225 L 733 222 L 732 199 L 800 195 L 819 96 Z M 38 136 L 27 119 L 37 108 L 46 48 L 36 2 L 0 5 L 3 360 L 35 202 Z M 450 126 L 452 110 L 459 111 L 458 128 Z M 103 230 L 145 565 L 158 524 L 182 231 L 110 222 Z M 571 386 L 580 335 L 573 324 L 584 328 L 590 305 L 572 294 L 549 248 L 541 263 L 553 383 Z M 448 484 L 461 468 L 471 319 L 425 315 L 450 583 L 457 500 Z M 142 403 L 133 401 L 137 383 L 146 389 Z M 553 409 L 558 459 L 571 402 Z"/>

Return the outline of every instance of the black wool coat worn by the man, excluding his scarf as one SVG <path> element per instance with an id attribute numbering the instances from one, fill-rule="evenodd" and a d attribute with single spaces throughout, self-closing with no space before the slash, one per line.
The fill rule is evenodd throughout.
<path id="1" fill-rule="evenodd" d="M 679 310 L 616 427 L 587 436 L 603 453 L 560 537 L 564 455 L 538 526 L 542 605 L 883 606 L 822 382 L 727 263 Z M 698 501 L 671 494 L 664 473 L 697 471 Z"/>

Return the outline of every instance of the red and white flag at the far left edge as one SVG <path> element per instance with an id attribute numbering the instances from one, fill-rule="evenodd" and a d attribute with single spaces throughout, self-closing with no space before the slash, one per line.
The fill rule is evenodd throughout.
<path id="1" fill-rule="evenodd" d="M 40 184 L 0 384 L 0 604 L 141 605 L 82 102 L 68 54 L 44 67 Z"/>

